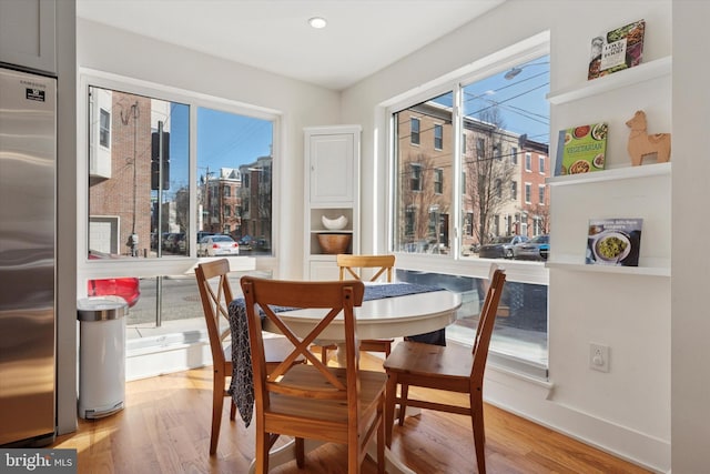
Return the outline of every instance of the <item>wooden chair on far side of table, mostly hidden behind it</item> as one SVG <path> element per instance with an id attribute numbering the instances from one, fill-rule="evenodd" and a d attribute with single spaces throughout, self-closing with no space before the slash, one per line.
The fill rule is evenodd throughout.
<path id="1" fill-rule="evenodd" d="M 355 280 L 362 280 L 359 273 L 354 269 L 378 269 L 371 276 L 371 282 L 376 282 L 383 274 L 387 283 L 392 283 L 393 268 L 395 266 L 395 255 L 349 255 L 339 253 L 335 261 L 339 268 L 339 279 L 345 280 L 346 276 Z M 384 352 L 385 356 L 392 352 L 392 343 L 394 339 L 364 339 L 359 342 L 359 350 L 367 352 Z M 326 363 L 328 351 L 335 350 L 335 344 L 321 346 L 321 360 Z"/>

